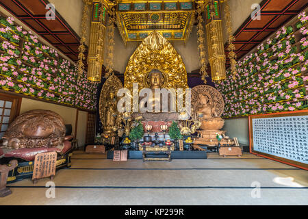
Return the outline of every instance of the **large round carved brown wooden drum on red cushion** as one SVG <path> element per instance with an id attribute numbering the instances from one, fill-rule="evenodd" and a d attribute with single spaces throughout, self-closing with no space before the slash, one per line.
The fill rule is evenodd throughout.
<path id="1" fill-rule="evenodd" d="M 3 146 L 32 149 L 64 146 L 63 118 L 50 110 L 31 110 L 18 116 L 3 136 Z"/>

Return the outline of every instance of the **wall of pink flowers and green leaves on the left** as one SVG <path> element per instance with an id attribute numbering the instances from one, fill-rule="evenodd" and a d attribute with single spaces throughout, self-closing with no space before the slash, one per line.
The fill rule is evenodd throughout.
<path id="1" fill-rule="evenodd" d="M 31 31 L 0 18 L 0 88 L 55 103 L 95 110 L 97 83 L 38 41 Z"/>

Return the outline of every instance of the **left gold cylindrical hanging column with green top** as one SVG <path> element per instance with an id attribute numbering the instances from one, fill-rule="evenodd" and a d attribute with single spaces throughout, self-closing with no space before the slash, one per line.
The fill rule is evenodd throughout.
<path id="1" fill-rule="evenodd" d="M 88 51 L 88 80 L 101 81 L 107 18 L 107 1 L 93 0 Z"/>

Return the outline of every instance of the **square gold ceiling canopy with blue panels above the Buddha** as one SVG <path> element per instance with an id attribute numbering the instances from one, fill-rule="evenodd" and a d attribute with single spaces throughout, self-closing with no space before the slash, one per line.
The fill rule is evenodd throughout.
<path id="1" fill-rule="evenodd" d="M 155 29 L 167 40 L 190 37 L 194 25 L 195 2 L 177 1 L 116 1 L 116 24 L 123 42 L 142 41 Z"/>

